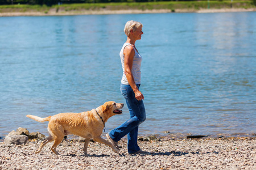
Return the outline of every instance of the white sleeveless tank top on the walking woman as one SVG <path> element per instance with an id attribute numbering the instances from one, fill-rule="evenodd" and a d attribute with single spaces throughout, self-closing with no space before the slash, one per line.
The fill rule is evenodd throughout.
<path id="1" fill-rule="evenodd" d="M 123 47 L 120 51 L 119 56 L 121 58 L 121 63 L 122 63 L 122 68 L 123 68 L 123 77 L 122 77 L 121 83 L 129 85 L 128 80 L 127 80 L 126 75 L 125 75 L 125 55 L 123 54 L 123 49 L 125 49 L 125 47 L 127 45 L 131 45 L 131 44 L 128 43 L 128 42 L 125 42 L 125 44 L 123 44 Z M 133 45 L 131 45 L 131 46 L 133 46 Z M 131 69 L 131 74 L 133 74 L 135 84 L 141 84 L 141 61 L 142 61 L 142 57 L 141 57 L 141 54 L 139 54 L 135 48 L 134 48 L 134 50 L 135 50 L 135 54 L 134 54 L 134 57 L 133 57 L 133 67 Z"/>

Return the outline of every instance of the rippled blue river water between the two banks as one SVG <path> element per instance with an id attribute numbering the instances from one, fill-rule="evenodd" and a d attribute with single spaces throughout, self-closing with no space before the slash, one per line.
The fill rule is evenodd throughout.
<path id="1" fill-rule="evenodd" d="M 256 133 L 256 12 L 0 18 L 0 136 L 47 134 L 40 117 L 125 103 L 119 50 L 127 20 L 143 23 L 147 120 L 139 135 Z M 106 123 L 106 132 L 129 118 Z"/>

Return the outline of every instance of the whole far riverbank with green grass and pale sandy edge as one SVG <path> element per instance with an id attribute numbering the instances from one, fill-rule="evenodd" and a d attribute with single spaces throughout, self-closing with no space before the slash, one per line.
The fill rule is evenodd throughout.
<path id="1" fill-rule="evenodd" d="M 232 7 L 231 7 L 232 6 Z M 188 1 L 141 3 L 80 3 L 48 6 L 3 5 L 0 16 L 59 16 L 150 14 L 168 12 L 245 12 L 256 11 L 251 1 Z"/>

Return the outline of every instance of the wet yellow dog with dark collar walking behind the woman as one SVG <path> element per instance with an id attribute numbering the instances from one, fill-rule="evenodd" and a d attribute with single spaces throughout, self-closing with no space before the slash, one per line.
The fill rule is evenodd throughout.
<path id="1" fill-rule="evenodd" d="M 118 154 L 119 148 L 112 145 L 109 141 L 102 139 L 101 134 L 102 130 L 105 128 L 106 121 L 115 114 L 122 114 L 122 108 L 123 103 L 108 101 L 100 107 L 92 109 L 92 111 L 81 113 L 59 113 L 46 118 L 28 114 L 27 117 L 32 118 L 32 120 L 38 122 L 49 121 L 49 137 L 41 143 L 35 153 L 38 154 L 48 142 L 54 141 L 51 150 L 56 155 L 60 155 L 59 152 L 56 151 L 56 148 L 63 140 L 64 136 L 75 134 L 85 138 L 85 155 L 87 155 L 87 148 L 91 138 L 96 142 L 110 146 L 112 150 Z"/>

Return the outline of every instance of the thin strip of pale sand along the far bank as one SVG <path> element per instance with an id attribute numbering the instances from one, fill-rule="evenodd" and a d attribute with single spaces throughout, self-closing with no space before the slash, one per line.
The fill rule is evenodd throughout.
<path id="1" fill-rule="evenodd" d="M 175 12 L 197 12 L 197 13 L 213 13 L 213 12 L 251 12 L 256 11 L 256 8 L 222 8 L 222 9 L 175 9 Z M 52 8 L 46 12 L 0 12 L 0 16 L 61 16 L 61 15 L 107 15 L 107 14 L 156 14 L 156 13 L 170 13 L 171 10 L 82 10 L 82 11 L 59 11 L 56 12 Z"/>

